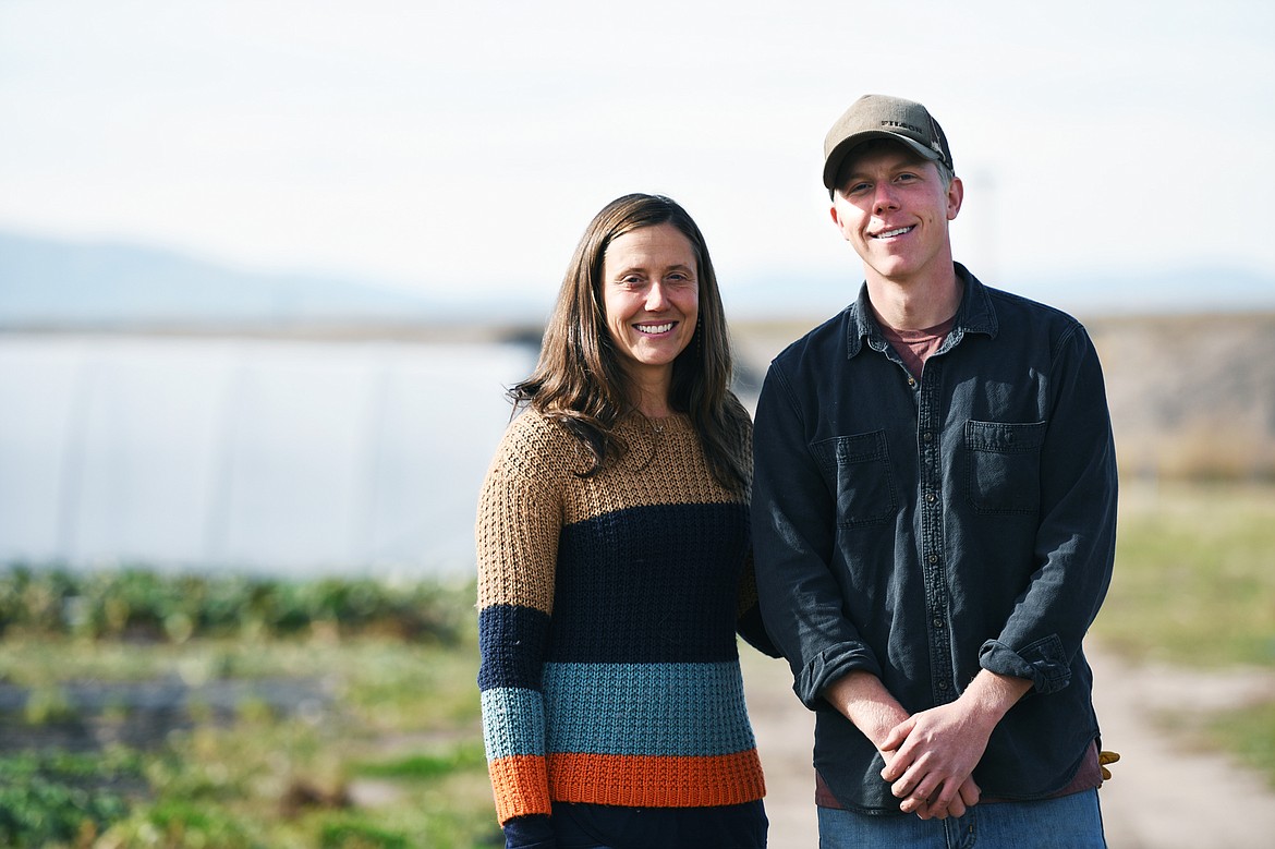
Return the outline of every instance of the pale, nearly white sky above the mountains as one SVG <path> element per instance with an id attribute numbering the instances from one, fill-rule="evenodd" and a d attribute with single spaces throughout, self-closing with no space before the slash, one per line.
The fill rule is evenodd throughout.
<path id="1" fill-rule="evenodd" d="M 986 282 L 1275 273 L 1275 4 L 0 0 L 0 229 L 552 298 L 657 191 L 732 282 L 859 265 L 822 139 L 926 103 Z"/>

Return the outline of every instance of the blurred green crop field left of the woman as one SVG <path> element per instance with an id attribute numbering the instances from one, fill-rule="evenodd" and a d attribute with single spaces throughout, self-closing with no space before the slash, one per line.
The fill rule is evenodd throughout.
<path id="1" fill-rule="evenodd" d="M 501 845 L 472 586 L 244 584 L 273 613 L 231 622 L 172 580 L 96 575 L 99 600 L 79 576 L 0 581 L 28 613 L 47 608 L 10 616 L 0 640 L 0 687 L 22 702 L 0 714 L 0 845 Z M 360 616 L 339 600 L 352 590 Z M 309 600 L 261 604 L 270 593 Z M 85 621 L 120 595 L 119 634 L 93 634 Z M 166 630 L 178 614 L 204 625 Z"/>

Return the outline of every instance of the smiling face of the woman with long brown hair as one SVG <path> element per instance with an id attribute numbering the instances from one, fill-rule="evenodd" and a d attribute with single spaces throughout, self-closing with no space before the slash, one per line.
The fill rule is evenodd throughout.
<path id="1" fill-rule="evenodd" d="M 602 265 L 607 331 L 644 391 L 667 394 L 673 361 L 690 344 L 700 308 L 699 264 L 673 224 L 611 240 Z"/>

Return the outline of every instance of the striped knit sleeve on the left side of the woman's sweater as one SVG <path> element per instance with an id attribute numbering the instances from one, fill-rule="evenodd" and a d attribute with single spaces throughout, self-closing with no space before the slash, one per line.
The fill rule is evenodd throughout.
<path id="1" fill-rule="evenodd" d="M 561 501 L 551 422 L 510 424 L 478 502 L 478 690 L 487 769 L 501 824 L 551 811 L 541 687 L 553 604 Z"/>

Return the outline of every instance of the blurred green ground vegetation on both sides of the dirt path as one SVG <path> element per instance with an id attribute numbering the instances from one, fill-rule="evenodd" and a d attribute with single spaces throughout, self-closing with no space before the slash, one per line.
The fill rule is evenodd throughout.
<path id="1" fill-rule="evenodd" d="M 0 570 L 0 845 L 499 846 L 474 590 Z M 1130 488 L 1091 637 L 1275 673 L 1275 490 Z M 1275 704 L 1168 718 L 1275 784 Z"/>

